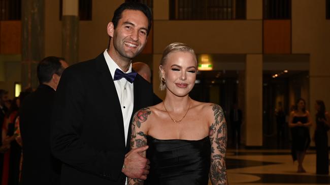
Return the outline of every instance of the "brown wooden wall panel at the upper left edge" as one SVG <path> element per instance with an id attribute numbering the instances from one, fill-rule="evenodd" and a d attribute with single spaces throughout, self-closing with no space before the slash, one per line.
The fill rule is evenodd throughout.
<path id="1" fill-rule="evenodd" d="M 21 21 L 0 21 L 0 54 L 21 54 Z"/>

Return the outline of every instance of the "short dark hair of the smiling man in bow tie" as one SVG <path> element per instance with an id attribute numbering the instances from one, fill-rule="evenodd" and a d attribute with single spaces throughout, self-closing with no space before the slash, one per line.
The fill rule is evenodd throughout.
<path id="1" fill-rule="evenodd" d="M 151 21 L 152 21 L 152 15 L 150 8 L 142 3 L 137 2 L 126 2 L 121 4 L 114 12 L 112 23 L 114 25 L 114 28 L 117 28 L 118 21 L 121 19 L 121 14 L 124 10 L 138 10 L 141 11 L 147 18 L 148 18 L 148 31 L 147 35 L 149 35 L 150 29 L 151 29 Z"/>

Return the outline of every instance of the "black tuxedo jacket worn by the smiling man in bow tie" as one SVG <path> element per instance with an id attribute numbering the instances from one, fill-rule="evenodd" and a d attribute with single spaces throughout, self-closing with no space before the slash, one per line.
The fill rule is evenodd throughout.
<path id="1" fill-rule="evenodd" d="M 137 75 L 132 116 L 152 105 L 152 95 L 151 84 Z M 103 53 L 65 69 L 55 100 L 51 148 L 64 163 L 61 184 L 124 184 L 121 168 L 130 137 L 125 141 L 120 103 Z"/>

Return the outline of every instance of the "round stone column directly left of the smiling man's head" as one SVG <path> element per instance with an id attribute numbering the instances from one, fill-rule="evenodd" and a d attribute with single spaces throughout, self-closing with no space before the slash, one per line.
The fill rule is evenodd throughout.
<path id="1" fill-rule="evenodd" d="M 78 0 L 63 0 L 62 56 L 69 65 L 78 62 L 79 16 Z"/>

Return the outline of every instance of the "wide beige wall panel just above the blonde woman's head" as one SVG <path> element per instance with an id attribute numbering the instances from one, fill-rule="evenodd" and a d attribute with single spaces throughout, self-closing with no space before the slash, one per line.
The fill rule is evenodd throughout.
<path id="1" fill-rule="evenodd" d="M 154 53 L 172 42 L 189 44 L 196 53 L 246 54 L 262 52 L 262 22 L 154 21 Z"/>

